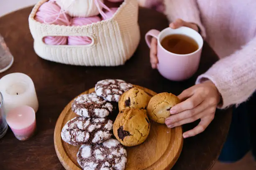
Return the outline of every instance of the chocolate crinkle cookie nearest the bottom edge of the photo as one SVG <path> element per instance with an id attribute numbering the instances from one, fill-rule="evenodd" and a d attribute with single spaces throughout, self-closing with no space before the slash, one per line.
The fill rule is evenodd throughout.
<path id="1" fill-rule="evenodd" d="M 82 145 L 77 162 L 84 170 L 124 170 L 127 153 L 118 140 L 96 145 Z"/>

